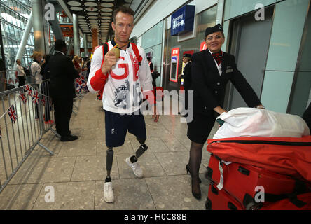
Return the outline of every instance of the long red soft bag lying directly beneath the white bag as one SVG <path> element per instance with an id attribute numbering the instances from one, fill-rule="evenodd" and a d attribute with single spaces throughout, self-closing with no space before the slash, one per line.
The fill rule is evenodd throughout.
<path id="1" fill-rule="evenodd" d="M 311 182 L 311 136 L 209 139 L 207 151 L 225 161 L 262 167 Z"/>

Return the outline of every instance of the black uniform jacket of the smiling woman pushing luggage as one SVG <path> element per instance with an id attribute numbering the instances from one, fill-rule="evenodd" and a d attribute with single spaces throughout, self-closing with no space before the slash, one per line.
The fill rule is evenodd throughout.
<path id="1" fill-rule="evenodd" d="M 260 105 L 261 101 L 256 93 L 237 69 L 235 57 L 223 52 L 221 65 L 223 73 L 220 76 L 214 57 L 208 49 L 193 55 L 191 90 L 194 93 L 194 113 L 211 116 L 214 114 L 214 108 L 223 107 L 226 85 L 229 80 L 249 107 Z"/>

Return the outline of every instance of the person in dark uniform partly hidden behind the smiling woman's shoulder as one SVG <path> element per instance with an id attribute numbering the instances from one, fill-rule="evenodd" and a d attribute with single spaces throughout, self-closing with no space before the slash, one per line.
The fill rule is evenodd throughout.
<path id="1" fill-rule="evenodd" d="M 181 78 L 181 85 L 184 86 L 184 97 L 185 97 L 185 110 L 188 110 L 188 91 L 191 87 L 191 54 L 185 54 L 183 57 L 183 62 L 185 64 L 184 71 L 179 75 L 178 78 Z M 182 116 L 186 117 L 187 114 L 182 114 Z"/>

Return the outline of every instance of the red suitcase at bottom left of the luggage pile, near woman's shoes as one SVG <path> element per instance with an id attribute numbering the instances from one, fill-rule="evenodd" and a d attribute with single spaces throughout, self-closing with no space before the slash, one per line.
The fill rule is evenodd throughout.
<path id="1" fill-rule="evenodd" d="M 209 195 L 205 202 L 206 210 L 244 210 L 244 207 L 225 190 L 218 190 L 210 184 Z"/>

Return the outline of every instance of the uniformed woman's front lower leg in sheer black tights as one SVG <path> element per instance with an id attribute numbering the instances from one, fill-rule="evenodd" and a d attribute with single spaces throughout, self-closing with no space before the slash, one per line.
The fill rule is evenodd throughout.
<path id="1" fill-rule="evenodd" d="M 200 193 L 199 169 L 202 161 L 203 144 L 191 142 L 189 166 L 193 193 Z"/>

